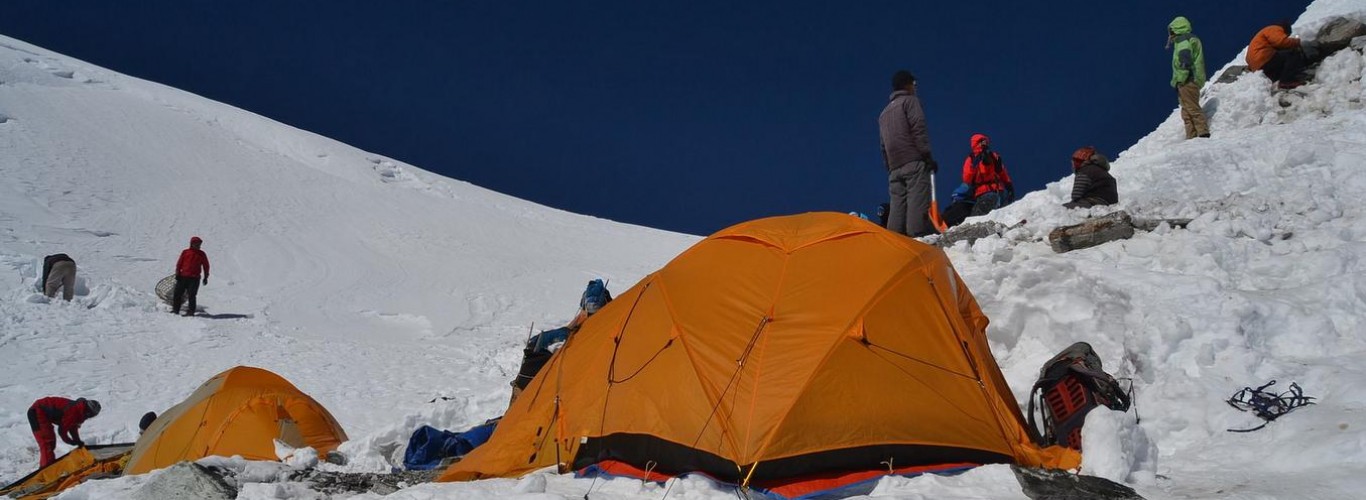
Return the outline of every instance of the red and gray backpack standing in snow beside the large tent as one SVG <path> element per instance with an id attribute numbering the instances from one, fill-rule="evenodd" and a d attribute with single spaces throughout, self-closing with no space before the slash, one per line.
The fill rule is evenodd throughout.
<path id="1" fill-rule="evenodd" d="M 1037 414 L 1041 422 L 1035 423 Z M 1029 425 L 1042 433 L 1041 445 L 1082 449 L 1082 423 L 1097 406 L 1128 411 L 1130 395 L 1101 367 L 1091 344 L 1078 342 L 1059 352 L 1038 373 L 1030 391 Z M 1040 425 L 1042 423 L 1042 425 Z"/>

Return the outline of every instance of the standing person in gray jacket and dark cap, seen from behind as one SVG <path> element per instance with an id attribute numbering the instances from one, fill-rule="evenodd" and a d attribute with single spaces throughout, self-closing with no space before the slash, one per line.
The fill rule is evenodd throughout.
<path id="1" fill-rule="evenodd" d="M 887 228 L 907 236 L 936 234 L 930 224 L 930 172 L 938 169 L 930 154 L 925 111 L 915 97 L 915 77 L 900 70 L 892 75 L 892 97 L 877 117 L 882 138 L 891 208 Z"/>

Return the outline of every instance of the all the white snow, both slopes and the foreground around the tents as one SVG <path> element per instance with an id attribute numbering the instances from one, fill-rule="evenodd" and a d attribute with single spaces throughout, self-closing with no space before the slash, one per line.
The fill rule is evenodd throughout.
<path id="1" fill-rule="evenodd" d="M 1366 1 L 1318 0 L 1295 31 L 1332 15 L 1366 19 Z M 1366 57 L 1344 51 L 1288 107 L 1261 75 L 1212 85 L 1212 139 L 1182 141 L 1173 113 L 1120 153 L 1120 208 L 1194 219 L 1184 230 L 1055 254 L 1049 230 L 1106 212 L 1061 209 L 1065 178 L 988 216 L 1024 221 L 1004 238 L 948 250 L 992 318 L 1018 398 L 1076 340 L 1134 378 L 1142 419 L 1093 413 L 1085 473 L 1149 499 L 1366 489 L 1363 74 Z M 352 437 L 350 470 L 387 470 L 417 425 L 460 429 L 500 413 L 527 325 L 567 320 L 586 277 L 624 290 L 694 240 L 441 179 L 16 41 L 0 40 L 0 275 L 11 283 L 0 287 L 0 481 L 36 462 L 23 419 L 33 398 L 101 399 L 105 414 L 85 433 L 131 440 L 142 411 L 235 363 L 276 370 L 332 408 Z M 1057 165 L 1068 173 L 1067 158 Z M 149 295 L 191 234 L 214 260 L 202 301 L 217 320 L 171 317 Z M 71 253 L 87 279 L 75 303 L 27 288 L 33 260 L 52 251 Z M 1298 383 L 1318 404 L 1227 432 L 1261 422 L 1224 400 L 1269 380 Z M 428 403 L 434 396 L 452 399 Z M 124 497 L 142 481 L 97 481 L 66 497 Z M 316 497 L 279 481 L 240 496 Z M 548 473 L 389 497 L 590 490 L 735 497 L 697 478 L 658 486 Z M 1003 466 L 888 478 L 874 495 L 1022 497 Z"/>

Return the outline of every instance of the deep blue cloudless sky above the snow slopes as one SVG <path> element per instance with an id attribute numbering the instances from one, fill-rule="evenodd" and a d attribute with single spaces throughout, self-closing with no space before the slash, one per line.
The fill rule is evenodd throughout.
<path id="1" fill-rule="evenodd" d="M 1307 4 L 10 0 L 0 33 L 492 190 L 706 235 L 872 213 L 897 68 L 919 78 L 941 199 L 978 131 L 1029 191 L 1176 107 L 1172 16 L 1213 71 Z"/>

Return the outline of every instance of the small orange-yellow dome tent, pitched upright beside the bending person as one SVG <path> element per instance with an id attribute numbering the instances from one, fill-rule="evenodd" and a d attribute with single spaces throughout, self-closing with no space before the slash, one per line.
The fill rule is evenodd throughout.
<path id="1" fill-rule="evenodd" d="M 276 460 L 276 439 L 322 455 L 347 437 L 336 418 L 294 384 L 260 367 L 236 366 L 161 414 L 138 439 L 127 474 L 213 455 Z"/>

